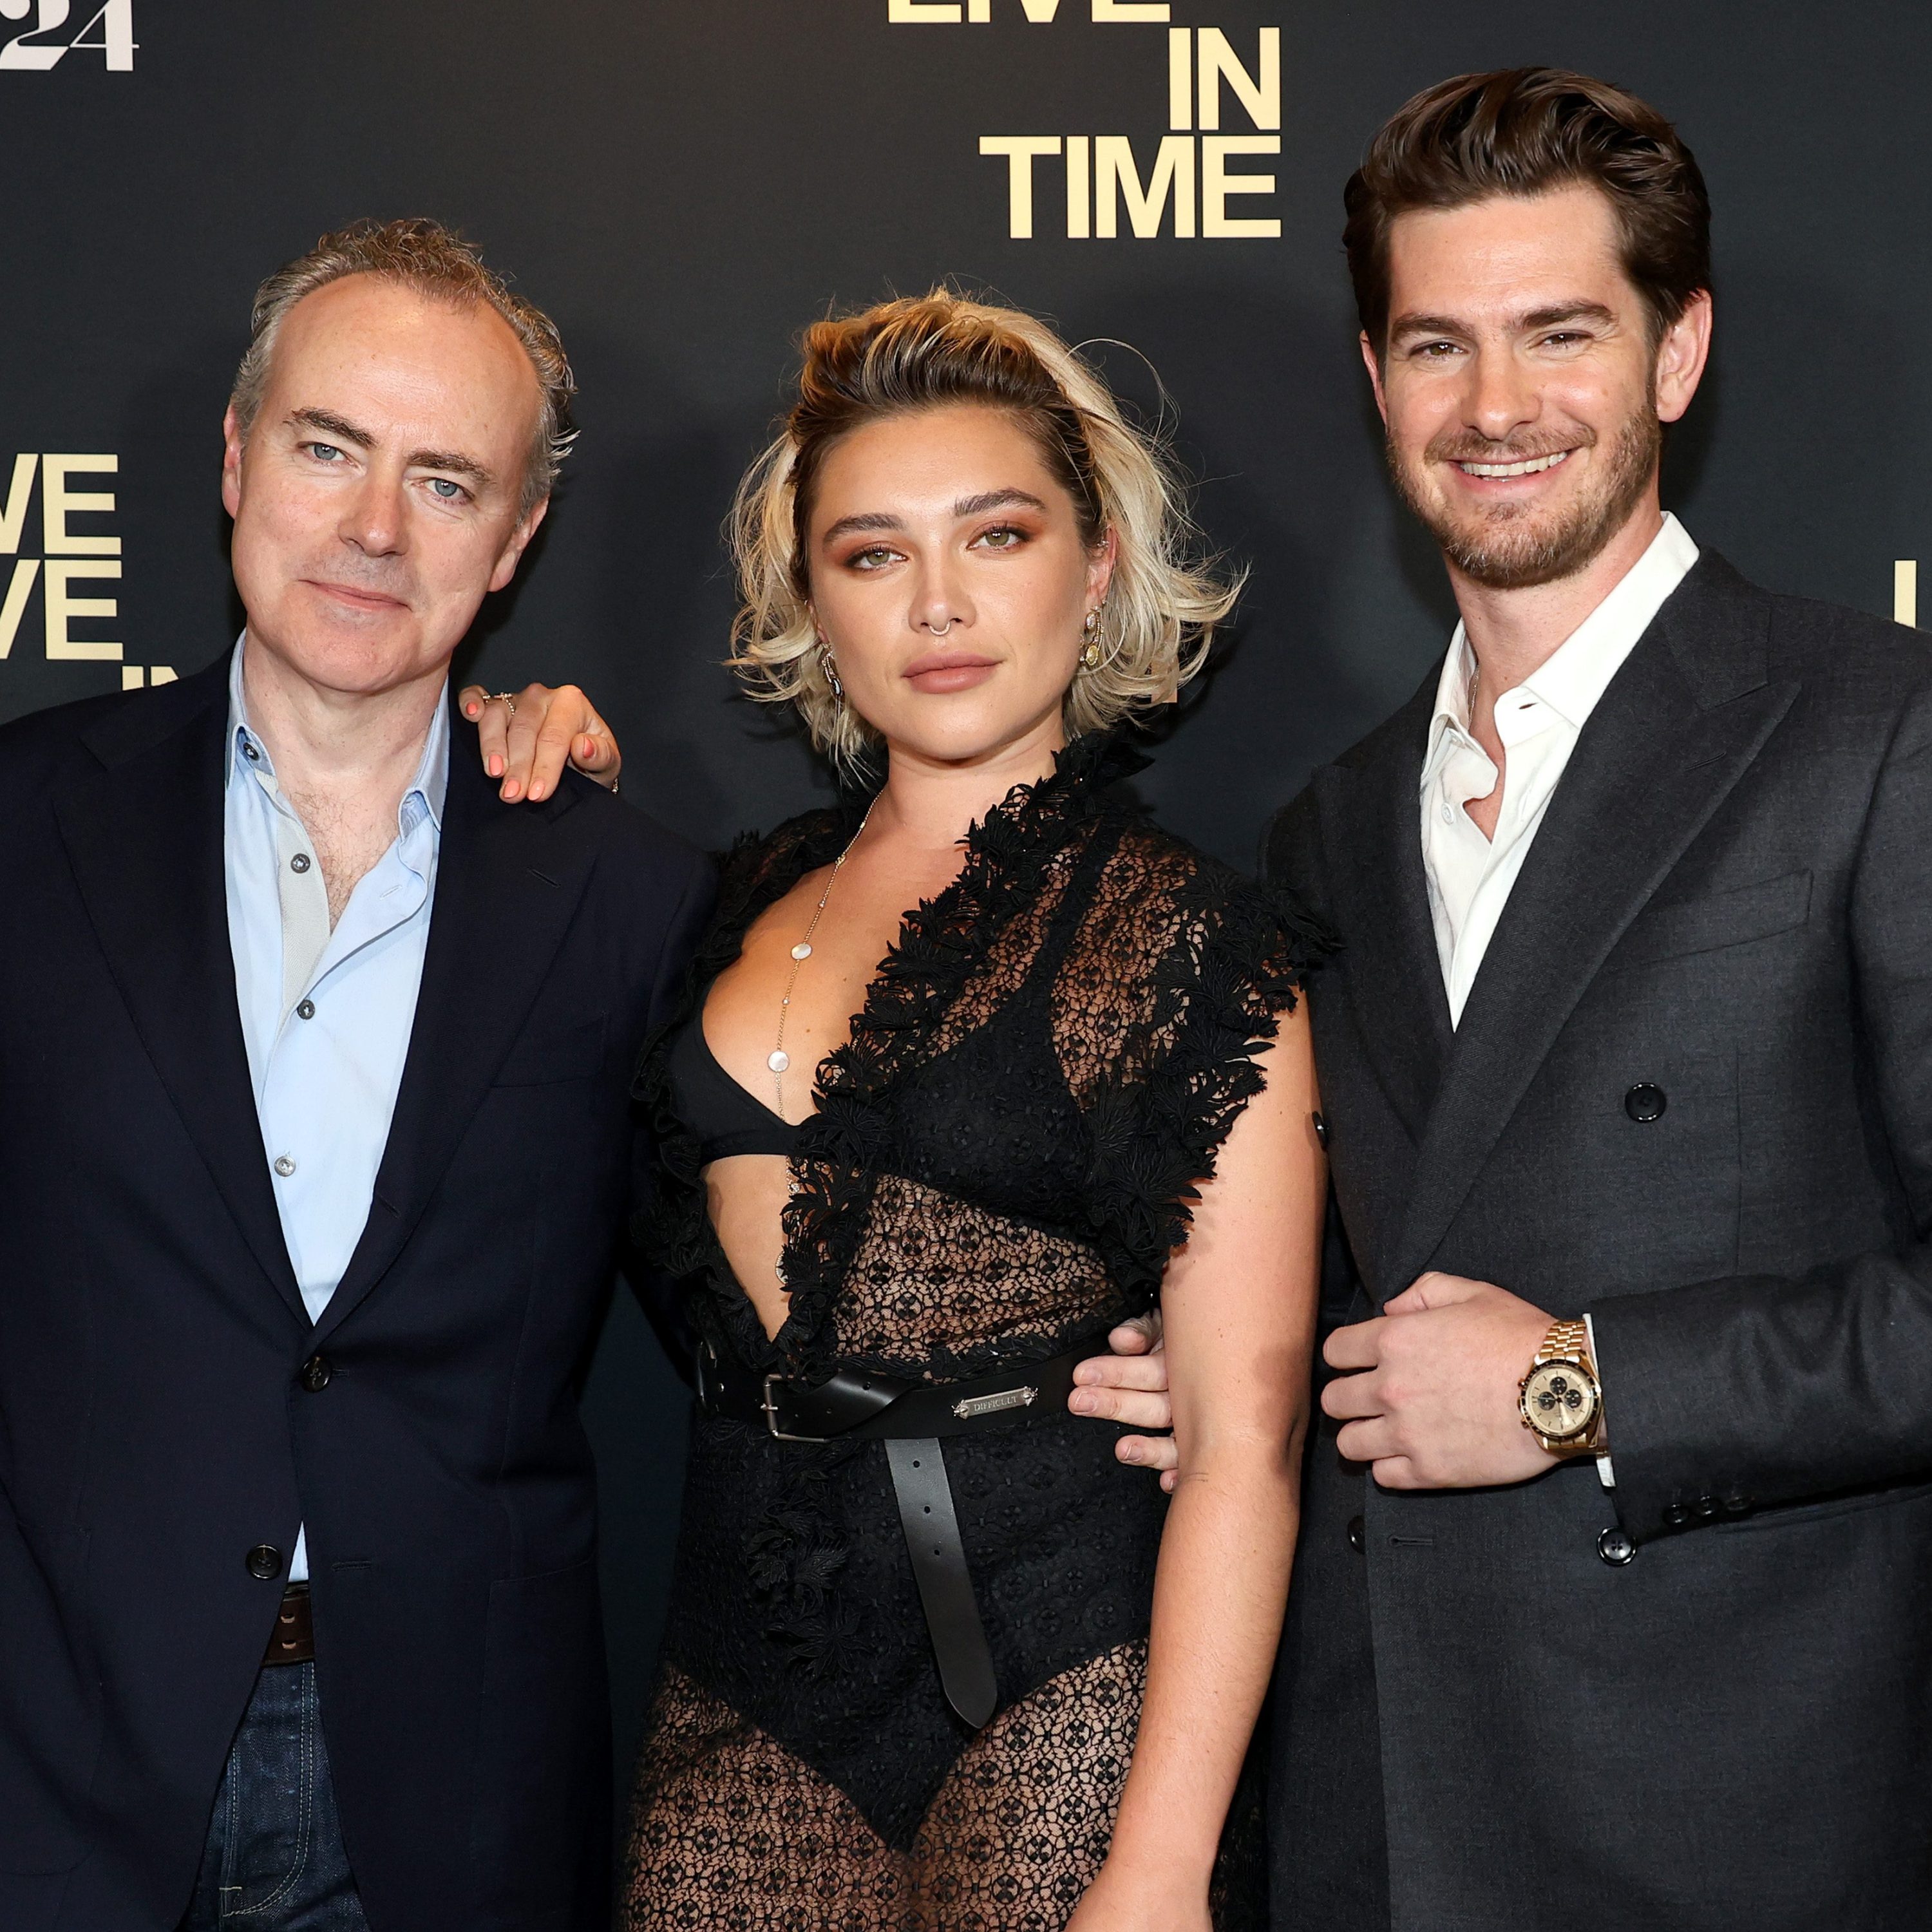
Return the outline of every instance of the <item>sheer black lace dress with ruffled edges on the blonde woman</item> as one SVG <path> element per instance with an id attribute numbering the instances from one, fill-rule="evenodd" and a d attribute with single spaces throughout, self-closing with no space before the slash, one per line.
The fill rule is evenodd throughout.
<path id="1" fill-rule="evenodd" d="M 1153 1306 L 1192 1186 L 1262 1086 L 1250 1055 L 1321 941 L 1109 790 L 1140 765 L 1076 740 L 906 920 L 798 1130 L 775 1341 L 707 1219 L 672 1047 L 864 802 L 732 852 L 684 1014 L 639 1078 L 663 1136 L 645 1238 L 721 1358 L 952 1381 Z M 1134 1748 L 1165 1515 L 1157 1482 L 1115 1461 L 1119 1434 L 1055 1416 L 947 1443 L 999 1683 L 976 1731 L 941 1690 L 885 1445 L 699 1416 L 632 1928 L 1065 1924 Z"/>

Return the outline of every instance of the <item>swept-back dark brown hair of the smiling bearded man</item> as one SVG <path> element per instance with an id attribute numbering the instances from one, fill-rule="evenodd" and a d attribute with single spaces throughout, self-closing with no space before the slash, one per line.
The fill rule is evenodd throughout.
<path id="1" fill-rule="evenodd" d="M 1439 81 L 1383 126 L 1343 189 L 1343 247 L 1362 332 L 1389 332 L 1389 230 L 1414 209 L 1495 195 L 1600 189 L 1623 236 L 1623 272 L 1652 340 L 1710 288 L 1710 195 L 1677 129 L 1636 95 L 1565 68 L 1509 68 Z"/>

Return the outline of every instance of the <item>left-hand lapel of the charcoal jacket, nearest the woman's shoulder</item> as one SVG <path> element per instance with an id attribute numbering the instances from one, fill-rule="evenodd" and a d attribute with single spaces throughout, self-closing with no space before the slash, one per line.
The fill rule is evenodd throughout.
<path id="1" fill-rule="evenodd" d="M 1341 978 L 1389 1103 L 1420 1142 L 1453 1039 L 1428 881 L 1422 761 L 1437 674 L 1356 753 L 1318 775 Z"/>

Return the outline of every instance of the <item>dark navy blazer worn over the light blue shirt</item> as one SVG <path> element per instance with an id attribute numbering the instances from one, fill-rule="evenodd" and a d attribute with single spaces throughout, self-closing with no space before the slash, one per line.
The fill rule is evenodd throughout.
<path id="1" fill-rule="evenodd" d="M 576 777 L 502 806 L 450 761 L 394 1122 L 311 1327 L 236 1007 L 224 659 L 0 730 L 0 1926 L 178 1922 L 282 1594 L 245 1559 L 307 1522 L 371 1924 L 601 1932 L 578 1389 L 711 869 Z"/>

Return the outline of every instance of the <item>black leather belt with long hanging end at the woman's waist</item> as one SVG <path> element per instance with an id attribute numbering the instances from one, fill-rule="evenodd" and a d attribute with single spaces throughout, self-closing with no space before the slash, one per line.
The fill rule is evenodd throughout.
<path id="1" fill-rule="evenodd" d="M 885 1443 L 939 1683 L 978 1731 L 999 1706 L 999 1685 L 939 1437 L 1072 1420 L 1066 1397 L 1074 1368 L 1103 1349 L 1105 1341 L 1092 1337 L 1051 1360 L 968 1381 L 902 1381 L 840 1368 L 825 1381 L 802 1383 L 721 1362 L 705 1343 L 697 1352 L 697 1405 L 707 1416 L 757 1422 L 781 1443 Z"/>

